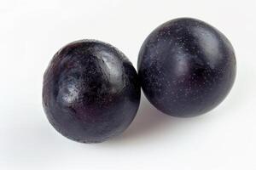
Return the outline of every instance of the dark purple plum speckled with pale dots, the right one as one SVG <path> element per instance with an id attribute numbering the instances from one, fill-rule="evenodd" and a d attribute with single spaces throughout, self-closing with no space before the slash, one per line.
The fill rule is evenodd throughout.
<path id="1" fill-rule="evenodd" d="M 236 56 L 229 40 L 201 20 L 179 18 L 157 27 L 138 58 L 143 92 L 158 110 L 179 117 L 211 111 L 229 94 Z"/>

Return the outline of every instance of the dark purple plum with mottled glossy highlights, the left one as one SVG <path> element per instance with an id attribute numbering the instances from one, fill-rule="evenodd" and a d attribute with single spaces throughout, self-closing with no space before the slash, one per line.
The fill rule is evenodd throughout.
<path id="1" fill-rule="evenodd" d="M 44 111 L 68 139 L 99 143 L 122 133 L 139 103 L 137 71 L 124 54 L 105 42 L 67 44 L 44 73 Z"/>

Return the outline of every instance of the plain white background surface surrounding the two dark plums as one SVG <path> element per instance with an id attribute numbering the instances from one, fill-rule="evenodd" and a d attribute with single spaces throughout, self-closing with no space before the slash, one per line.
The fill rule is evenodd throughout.
<path id="1" fill-rule="evenodd" d="M 236 82 L 221 105 L 177 119 L 142 96 L 131 126 L 102 144 L 73 142 L 49 125 L 42 80 L 59 48 L 98 39 L 137 67 L 145 37 L 183 16 L 217 27 L 236 49 Z M 256 169 L 255 17 L 255 0 L 0 0 L 0 169 Z"/>

